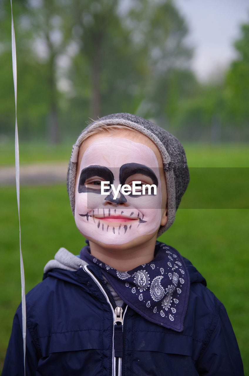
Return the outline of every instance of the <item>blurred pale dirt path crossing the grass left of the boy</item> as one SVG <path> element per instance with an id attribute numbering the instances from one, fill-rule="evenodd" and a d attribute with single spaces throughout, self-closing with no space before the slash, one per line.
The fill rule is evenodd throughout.
<path id="1" fill-rule="evenodd" d="M 67 162 L 36 163 L 20 166 L 20 184 L 65 183 Z M 15 185 L 15 166 L 0 167 L 0 185 Z"/>

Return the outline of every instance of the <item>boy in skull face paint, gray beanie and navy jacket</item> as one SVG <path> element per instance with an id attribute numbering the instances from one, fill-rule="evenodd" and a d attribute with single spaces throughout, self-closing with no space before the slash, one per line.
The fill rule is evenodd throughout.
<path id="1" fill-rule="evenodd" d="M 225 308 L 156 241 L 188 180 L 181 144 L 149 121 L 113 114 L 81 133 L 67 187 L 87 246 L 60 249 L 27 294 L 27 375 L 243 375 Z M 23 374 L 20 307 L 7 374 Z"/>

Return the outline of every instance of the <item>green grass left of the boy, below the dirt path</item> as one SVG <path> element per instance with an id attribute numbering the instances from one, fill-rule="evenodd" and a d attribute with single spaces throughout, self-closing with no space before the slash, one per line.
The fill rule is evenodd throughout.
<path id="1" fill-rule="evenodd" d="M 84 245 L 65 186 L 22 187 L 21 242 L 26 292 L 41 281 L 43 267 L 60 247 L 77 254 Z M 0 187 L 0 368 L 20 303 L 19 227 L 15 187 Z"/>

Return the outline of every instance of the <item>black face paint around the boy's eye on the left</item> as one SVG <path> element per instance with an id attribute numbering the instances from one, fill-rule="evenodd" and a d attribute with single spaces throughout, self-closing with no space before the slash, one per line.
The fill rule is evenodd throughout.
<path id="1" fill-rule="evenodd" d="M 101 193 L 101 181 L 113 183 L 114 176 L 109 168 L 104 166 L 92 165 L 84 168 L 79 178 L 79 193 L 94 192 Z"/>

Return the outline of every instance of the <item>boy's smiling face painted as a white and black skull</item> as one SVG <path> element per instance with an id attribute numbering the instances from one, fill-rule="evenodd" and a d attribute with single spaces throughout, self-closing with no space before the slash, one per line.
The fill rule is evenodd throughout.
<path id="1" fill-rule="evenodd" d="M 134 141 L 136 140 L 136 142 Z M 75 189 L 75 222 L 85 238 L 102 247 L 131 248 L 155 237 L 167 222 L 162 158 L 146 136 L 115 130 L 90 136 L 80 148 Z M 156 194 L 119 193 L 118 185 L 156 185 Z M 101 182 L 110 188 L 101 194 Z M 138 192 L 137 190 L 136 192 Z"/>

